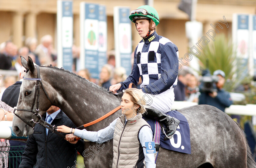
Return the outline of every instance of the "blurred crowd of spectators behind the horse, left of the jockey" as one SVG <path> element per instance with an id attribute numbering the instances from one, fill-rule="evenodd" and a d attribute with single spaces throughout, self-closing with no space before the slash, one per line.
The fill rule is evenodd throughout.
<path id="1" fill-rule="evenodd" d="M 107 64 L 105 64 L 100 71 L 99 79 L 91 78 L 90 72 L 87 69 L 80 69 L 80 47 L 73 45 L 73 67 L 72 71 L 85 79 L 94 82 L 106 89 L 109 86 L 119 83 L 126 79 L 126 70 L 123 67 L 116 68 L 115 52 L 114 50 L 108 53 Z M 16 71 L 16 78 L 21 72 L 22 65 L 20 56 L 32 58 L 37 65 L 57 66 L 57 54 L 53 48 L 53 39 L 50 35 L 45 35 L 41 38 L 40 43 L 36 38 L 28 37 L 24 46 L 17 48 L 11 41 L 6 41 L 0 44 L 0 70 Z M 1 79 L 0 98 L 8 86 L 15 83 L 14 76 L 5 75 Z M 0 99 L 1 100 L 1 99 Z"/>

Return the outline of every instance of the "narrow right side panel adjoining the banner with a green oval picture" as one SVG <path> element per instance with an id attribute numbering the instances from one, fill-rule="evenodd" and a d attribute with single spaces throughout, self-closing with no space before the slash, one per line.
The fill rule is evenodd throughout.
<path id="1" fill-rule="evenodd" d="M 98 70 L 107 63 L 107 15 L 106 6 L 99 5 L 99 48 L 98 48 Z"/>

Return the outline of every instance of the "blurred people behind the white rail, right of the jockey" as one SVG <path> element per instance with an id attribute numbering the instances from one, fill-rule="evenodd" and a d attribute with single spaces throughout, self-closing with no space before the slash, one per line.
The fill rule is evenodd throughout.
<path id="1" fill-rule="evenodd" d="M 225 73 L 222 70 L 216 70 L 213 74 L 207 74 L 209 77 L 214 75 L 218 78 L 212 82 L 213 91 L 204 91 L 201 87 L 203 81 L 199 79 L 193 70 L 183 67 L 178 73 L 178 83 L 174 87 L 175 101 L 196 102 L 199 105 L 212 105 L 223 112 L 225 108 L 233 104 L 230 94 L 223 89 L 225 84 Z M 206 76 L 207 76 L 206 75 Z"/>

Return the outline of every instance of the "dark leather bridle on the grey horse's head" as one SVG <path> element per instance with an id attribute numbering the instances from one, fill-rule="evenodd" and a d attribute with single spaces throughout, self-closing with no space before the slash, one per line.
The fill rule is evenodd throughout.
<path id="1" fill-rule="evenodd" d="M 48 94 L 46 93 L 45 89 L 44 89 L 44 86 L 42 84 L 42 81 L 41 81 L 41 78 L 40 78 L 40 69 L 39 69 L 39 66 L 36 65 L 36 68 L 37 68 L 37 78 L 25 78 L 23 77 L 24 80 L 29 80 L 29 81 L 37 81 L 36 83 L 36 88 L 35 88 L 35 95 L 34 95 L 34 100 L 33 100 L 33 103 L 32 103 L 32 107 L 31 109 L 14 109 L 14 114 L 20 118 L 23 122 L 25 122 L 28 126 L 30 126 L 32 129 L 34 129 L 34 127 L 32 125 L 29 124 L 29 122 L 34 122 L 34 123 L 39 123 L 39 122 L 35 122 L 34 119 L 33 119 L 33 116 L 36 115 L 37 118 L 39 118 L 39 120 L 42 119 L 41 115 L 38 114 L 38 111 L 39 111 L 39 95 L 40 95 L 40 84 L 44 90 L 44 93 L 46 94 L 47 98 L 49 99 L 49 101 L 51 102 L 52 104 L 52 101 L 51 99 L 49 98 Z M 37 108 L 36 108 L 36 112 L 33 111 L 33 108 L 34 108 L 34 105 L 35 105 L 35 101 L 36 101 L 36 96 L 37 96 Z M 29 111 L 29 112 L 32 112 L 34 113 L 32 115 L 32 118 L 29 122 L 27 122 L 26 120 L 24 120 L 23 118 L 21 118 L 18 114 L 15 113 L 15 111 Z"/>

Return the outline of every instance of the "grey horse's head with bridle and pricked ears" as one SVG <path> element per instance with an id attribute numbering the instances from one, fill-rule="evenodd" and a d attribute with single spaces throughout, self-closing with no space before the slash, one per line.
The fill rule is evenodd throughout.
<path id="1" fill-rule="evenodd" d="M 27 61 L 21 56 L 21 63 L 23 67 L 26 68 L 26 74 L 23 77 L 23 79 L 26 80 L 23 80 L 20 87 L 20 95 L 17 104 L 18 110 L 15 111 L 16 115 L 13 117 L 12 130 L 17 136 L 27 136 L 34 132 L 32 127 L 34 127 L 35 122 L 40 119 L 39 115 L 44 115 L 45 111 L 51 106 L 51 102 L 42 89 L 40 81 L 36 80 L 39 78 L 38 75 L 43 77 L 43 73 L 41 72 L 40 74 L 39 67 L 37 70 L 30 57 L 28 57 Z M 40 87 L 37 90 L 36 87 L 38 87 L 38 85 Z M 38 91 L 40 94 L 38 94 Z M 39 103 L 37 101 L 39 101 Z M 34 113 L 37 113 L 37 107 L 39 109 L 39 115 L 34 115 Z"/>

